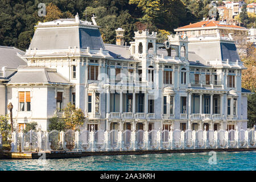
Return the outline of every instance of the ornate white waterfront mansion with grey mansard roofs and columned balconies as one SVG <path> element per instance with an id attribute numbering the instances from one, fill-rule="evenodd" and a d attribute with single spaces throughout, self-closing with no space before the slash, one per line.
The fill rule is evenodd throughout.
<path id="1" fill-rule="evenodd" d="M 45 131 L 72 102 L 88 130 L 247 129 L 245 67 L 231 36 L 156 39 L 156 32 L 137 31 L 122 46 L 118 28 L 119 45 L 104 44 L 94 18 L 78 15 L 39 23 L 26 53 L 16 56 L 23 63 L 0 71 L 0 114 L 11 102 L 16 126 L 35 121 Z"/>

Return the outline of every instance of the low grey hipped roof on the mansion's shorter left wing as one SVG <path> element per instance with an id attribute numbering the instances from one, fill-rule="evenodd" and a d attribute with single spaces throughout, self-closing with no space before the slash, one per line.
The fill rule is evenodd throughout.
<path id="1" fill-rule="evenodd" d="M 56 72 L 46 67 L 19 67 L 18 72 L 10 77 L 8 84 L 71 84 Z"/>

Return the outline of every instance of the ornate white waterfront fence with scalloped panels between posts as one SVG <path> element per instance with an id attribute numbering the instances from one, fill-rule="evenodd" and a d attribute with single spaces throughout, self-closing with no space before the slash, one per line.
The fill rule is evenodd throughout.
<path id="1" fill-rule="evenodd" d="M 255 130 L 151 130 L 2 133 L 2 150 L 26 151 L 138 151 L 204 148 L 256 148 Z M 10 144 L 10 147 L 6 147 Z M 5 147 L 4 147 L 5 146 Z"/>

